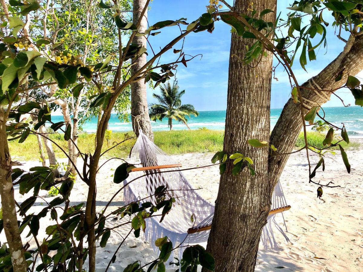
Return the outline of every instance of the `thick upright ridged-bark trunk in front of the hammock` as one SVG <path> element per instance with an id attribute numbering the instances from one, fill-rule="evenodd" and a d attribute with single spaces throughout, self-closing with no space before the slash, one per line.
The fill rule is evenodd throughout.
<path id="1" fill-rule="evenodd" d="M 276 11 L 276 0 L 253 2 L 257 14 L 264 9 Z M 247 13 L 249 5 L 249 0 L 237 0 L 234 10 Z M 274 18 L 275 13 L 264 17 L 266 21 Z M 243 65 L 240 59 L 244 57 L 246 45 L 252 43 L 251 39 L 232 34 L 223 150 L 228 154 L 238 151 L 253 158 L 256 175 L 251 176 L 244 168 L 233 176 L 231 164 L 221 175 L 207 245 L 207 251 L 215 257 L 218 272 L 254 271 L 261 231 L 271 206 L 273 188 L 269 185 L 268 149 L 254 148 L 247 141 L 269 140 L 272 54 L 268 53 L 263 61 L 255 61 L 254 68 Z"/>

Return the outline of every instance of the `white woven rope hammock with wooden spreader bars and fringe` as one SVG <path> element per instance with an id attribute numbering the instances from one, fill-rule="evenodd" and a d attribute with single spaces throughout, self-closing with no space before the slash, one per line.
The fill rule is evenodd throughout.
<path id="1" fill-rule="evenodd" d="M 146 221 L 144 235 L 154 250 L 159 250 L 155 246 L 154 241 L 164 236 L 170 239 L 174 247 L 181 244 L 178 251 L 179 256 L 182 256 L 183 246 L 207 242 L 214 214 L 214 205 L 205 201 L 197 191 L 193 190 L 192 186 L 183 176 L 182 171 L 161 173 L 161 171 L 178 170 L 181 165 L 177 164 L 170 156 L 152 143 L 142 133 L 141 129 L 139 137 L 130 152 L 130 160 L 131 163 L 141 164 L 143 167 L 132 169 L 129 178 L 124 181 L 124 184 L 146 173 L 152 174 L 138 178 L 126 186 L 124 190 L 124 200 L 126 203 L 138 201 L 148 195 L 152 195 L 155 189 L 162 185 L 167 186 L 170 190 L 174 190 L 172 193 L 175 197 L 175 203 L 172 207 L 171 215 L 166 216 L 161 223 L 159 223 L 160 218 L 156 217 L 149 218 Z M 146 201 L 152 201 L 152 199 L 146 198 L 141 202 Z M 273 226 L 289 241 L 284 230 L 275 221 L 277 213 L 290 209 L 290 206 L 286 203 L 280 181 L 274 189 L 271 202 L 272 206 L 268 216 L 268 223 L 261 234 L 261 240 L 265 249 L 269 246 L 274 249 L 278 247 L 273 235 Z M 195 222 L 191 222 L 192 214 L 194 214 Z M 167 263 L 172 260 L 174 260 L 174 251 Z"/>

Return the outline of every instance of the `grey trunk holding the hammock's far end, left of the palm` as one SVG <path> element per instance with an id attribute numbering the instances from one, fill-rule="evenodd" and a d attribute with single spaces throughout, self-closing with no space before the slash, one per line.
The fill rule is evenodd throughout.
<path id="1" fill-rule="evenodd" d="M 134 0 L 133 18 L 132 21 L 136 24 L 140 18 L 140 13 L 146 5 L 146 0 Z M 139 32 L 144 32 L 147 29 L 147 11 L 141 20 Z M 142 45 L 146 48 L 146 38 L 144 36 L 135 36 L 132 40 L 133 44 Z M 146 63 L 146 55 L 143 54 L 136 61 L 132 61 L 131 74 L 140 70 Z M 154 134 L 151 130 L 149 110 L 146 99 L 146 84 L 143 80 L 131 84 L 131 122 L 132 128 L 136 135 L 139 135 L 139 129 L 151 140 L 154 141 Z"/>

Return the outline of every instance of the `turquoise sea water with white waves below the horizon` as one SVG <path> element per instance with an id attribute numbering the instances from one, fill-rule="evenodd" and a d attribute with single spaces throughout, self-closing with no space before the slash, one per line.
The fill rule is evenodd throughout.
<path id="1" fill-rule="evenodd" d="M 324 108 L 326 119 L 331 123 L 341 126 L 341 123 L 346 125 L 350 135 L 363 135 L 363 108 L 354 107 L 327 107 Z M 271 110 L 271 129 L 276 124 L 282 109 Z M 223 130 L 225 126 L 226 111 L 201 111 L 198 117 L 192 116 L 189 118 L 188 125 L 191 129 L 206 127 L 208 129 Z M 62 121 L 62 116 L 52 116 L 53 122 Z M 131 119 L 130 119 L 131 120 Z M 318 120 L 318 119 L 316 119 Z M 154 131 L 168 130 L 168 121 L 164 119 L 151 122 Z M 83 125 L 82 129 L 86 132 L 95 132 L 97 127 L 97 119 L 93 118 Z M 118 120 L 116 114 L 112 114 L 109 121 L 109 129 L 112 131 L 131 131 L 131 123 L 122 123 Z M 187 129 L 187 127 L 173 120 L 173 129 Z"/>

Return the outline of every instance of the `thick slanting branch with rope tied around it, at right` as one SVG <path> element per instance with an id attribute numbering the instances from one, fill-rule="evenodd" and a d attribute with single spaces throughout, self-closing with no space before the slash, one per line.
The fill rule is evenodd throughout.
<path id="1" fill-rule="evenodd" d="M 342 79 L 335 82 L 335 77 L 344 69 Z M 322 90 L 334 90 L 344 85 L 347 81 L 348 74 L 356 75 L 363 70 L 363 37 L 356 37 L 352 45 L 347 44 L 343 52 L 339 54 L 328 66 L 326 66 L 318 75 L 305 82 L 302 86 L 309 88 L 321 88 Z M 316 84 L 315 84 L 315 83 Z M 321 92 L 319 92 L 321 93 Z M 325 92 L 328 96 L 330 92 Z M 312 90 L 302 89 L 302 96 L 320 105 L 327 102 L 321 94 Z M 311 103 L 309 106 L 312 106 Z M 329 121 L 329 116 L 326 116 Z M 289 153 L 295 146 L 296 139 L 301 131 L 302 120 L 300 116 L 299 104 L 295 104 L 292 99 L 285 104 L 270 137 L 270 144 L 273 144 L 278 153 Z M 290 155 L 274 156 L 269 161 L 269 176 L 272 185 L 275 185 L 284 170 L 287 159 Z M 308 177 L 306 176 L 308 182 Z"/>

